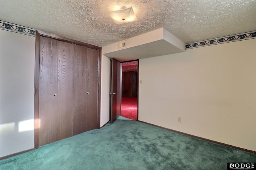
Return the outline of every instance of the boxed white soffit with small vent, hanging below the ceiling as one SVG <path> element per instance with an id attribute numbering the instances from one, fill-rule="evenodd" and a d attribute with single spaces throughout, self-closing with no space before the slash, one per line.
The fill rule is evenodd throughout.
<path id="1" fill-rule="evenodd" d="M 122 62 L 185 51 L 185 43 L 164 28 L 156 29 L 124 41 L 126 41 L 126 48 L 118 50 L 118 43 L 120 42 L 113 43 L 102 47 L 102 54 Z"/>

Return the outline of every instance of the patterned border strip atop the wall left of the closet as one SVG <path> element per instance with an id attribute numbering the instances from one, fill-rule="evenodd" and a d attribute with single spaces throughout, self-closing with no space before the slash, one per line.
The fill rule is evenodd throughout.
<path id="1" fill-rule="evenodd" d="M 13 23 L 8 23 L 5 21 L 0 21 L 0 29 L 4 29 L 7 31 L 12 31 L 12 32 L 16 32 L 16 33 L 22 33 L 22 34 L 26 34 L 26 35 L 30 35 L 30 36 L 34 36 L 34 37 L 36 36 L 35 29 L 23 27 L 21 25 L 16 25 Z"/>

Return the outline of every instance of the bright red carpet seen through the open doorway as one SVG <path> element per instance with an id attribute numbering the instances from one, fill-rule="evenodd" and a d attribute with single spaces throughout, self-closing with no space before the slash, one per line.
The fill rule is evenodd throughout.
<path id="1" fill-rule="evenodd" d="M 137 97 L 122 97 L 121 116 L 137 120 Z"/>

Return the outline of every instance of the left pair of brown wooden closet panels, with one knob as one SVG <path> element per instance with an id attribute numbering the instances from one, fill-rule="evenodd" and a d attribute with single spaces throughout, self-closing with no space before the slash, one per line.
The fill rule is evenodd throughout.
<path id="1" fill-rule="evenodd" d="M 39 146 L 72 136 L 74 45 L 40 37 Z"/>

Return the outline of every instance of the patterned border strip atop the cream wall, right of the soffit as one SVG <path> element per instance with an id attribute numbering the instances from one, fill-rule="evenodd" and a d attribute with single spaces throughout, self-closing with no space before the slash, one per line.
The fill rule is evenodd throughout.
<path id="1" fill-rule="evenodd" d="M 240 33 L 240 34 L 236 34 L 236 35 L 229 35 L 226 37 L 220 37 L 220 38 L 215 38 L 215 39 L 208 39 L 205 41 L 199 41 L 199 42 L 195 42 L 195 43 L 188 43 L 188 44 L 186 44 L 185 49 L 192 49 L 192 48 L 204 47 L 204 46 L 208 46 L 208 45 L 229 43 L 229 42 L 241 41 L 241 40 L 252 39 L 252 38 L 256 38 L 256 31 Z"/>

